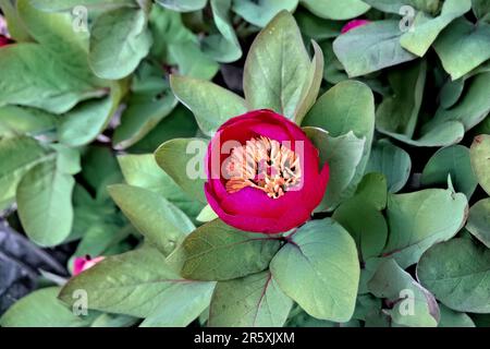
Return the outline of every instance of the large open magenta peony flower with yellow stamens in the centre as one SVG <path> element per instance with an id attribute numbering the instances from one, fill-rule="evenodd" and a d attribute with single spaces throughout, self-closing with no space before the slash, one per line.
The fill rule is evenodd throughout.
<path id="1" fill-rule="evenodd" d="M 228 225 L 254 232 L 291 230 L 310 218 L 327 188 L 319 152 L 303 130 L 271 110 L 225 122 L 206 156 L 209 205 Z"/>

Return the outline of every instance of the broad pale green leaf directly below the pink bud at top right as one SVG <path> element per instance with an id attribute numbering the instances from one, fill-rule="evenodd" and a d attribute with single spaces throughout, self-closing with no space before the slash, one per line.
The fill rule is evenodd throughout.
<path id="1" fill-rule="evenodd" d="M 350 77 L 412 61 L 415 55 L 400 45 L 399 21 L 377 21 L 340 35 L 333 50 Z"/>

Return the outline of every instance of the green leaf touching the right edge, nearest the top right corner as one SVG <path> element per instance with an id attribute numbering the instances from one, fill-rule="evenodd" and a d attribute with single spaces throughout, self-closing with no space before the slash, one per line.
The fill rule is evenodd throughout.
<path id="1" fill-rule="evenodd" d="M 473 24 L 462 17 L 433 44 L 444 70 L 457 80 L 490 59 L 490 24 Z"/>

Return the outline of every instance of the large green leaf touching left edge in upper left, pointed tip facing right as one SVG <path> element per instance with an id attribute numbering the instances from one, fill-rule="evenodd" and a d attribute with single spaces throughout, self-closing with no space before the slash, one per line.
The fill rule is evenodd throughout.
<path id="1" fill-rule="evenodd" d="M 37 44 L 3 47 L 0 106 L 12 104 L 62 113 L 79 100 L 105 95 L 98 82 L 86 79 L 84 68 L 66 61 Z"/>

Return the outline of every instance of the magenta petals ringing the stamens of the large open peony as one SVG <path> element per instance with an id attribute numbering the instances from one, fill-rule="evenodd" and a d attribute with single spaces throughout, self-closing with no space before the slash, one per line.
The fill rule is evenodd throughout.
<path id="1" fill-rule="evenodd" d="M 226 180 L 222 178 L 221 165 L 229 156 L 221 154 L 222 144 L 235 141 L 244 145 L 246 141 L 259 136 L 291 142 L 285 146 L 301 158 L 301 185 L 289 188 L 278 198 L 271 198 L 262 190 L 252 186 L 229 193 Z M 304 224 L 321 202 L 329 178 L 328 165 L 320 172 L 319 152 L 305 132 L 286 118 L 265 109 L 225 122 L 211 140 L 206 161 L 208 181 L 205 193 L 209 205 L 228 225 L 252 232 L 284 232 Z"/>

